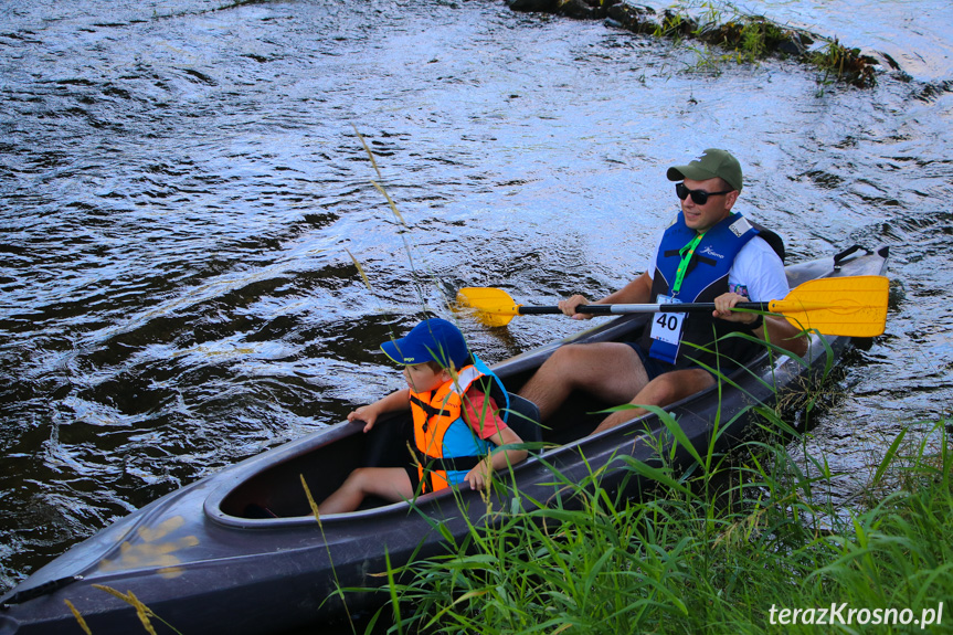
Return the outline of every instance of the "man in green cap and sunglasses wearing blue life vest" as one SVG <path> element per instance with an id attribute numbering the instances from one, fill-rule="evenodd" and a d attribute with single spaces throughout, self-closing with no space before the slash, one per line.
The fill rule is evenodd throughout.
<path id="1" fill-rule="evenodd" d="M 790 290 L 781 257 L 759 235 L 763 230 L 731 212 L 742 188 L 738 160 L 708 149 L 687 166 L 669 168 L 667 177 L 680 181 L 681 213 L 665 230 L 646 272 L 595 304 L 713 301 L 714 310 L 710 316 L 659 313 L 637 342 L 559 348 L 520 391 L 539 406 L 543 420 L 573 390 L 606 403 L 661 406 L 714 385 L 709 369 L 728 374 L 763 350 L 744 338 L 721 339 L 730 332 L 769 339 L 796 354 L 807 350 L 806 339 L 784 318 L 731 310 L 739 301 L 782 299 Z M 575 311 L 584 304 L 592 303 L 575 295 L 559 307 L 574 319 L 587 319 L 592 316 Z M 595 432 L 644 413 L 615 412 Z"/>

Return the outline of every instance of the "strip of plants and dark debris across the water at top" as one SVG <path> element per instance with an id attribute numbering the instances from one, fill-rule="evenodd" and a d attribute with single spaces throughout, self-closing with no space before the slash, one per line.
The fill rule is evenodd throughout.
<path id="1" fill-rule="evenodd" d="M 822 86 L 841 82 L 868 88 L 877 83 L 879 64 L 860 49 L 849 49 L 837 38 L 744 13 L 729 3 L 689 0 L 654 8 L 626 0 L 507 0 L 507 4 L 513 11 L 605 20 L 633 33 L 698 41 L 706 46 L 698 52 L 699 68 L 717 68 L 719 63 L 731 61 L 756 64 L 766 57 L 794 59 L 823 73 L 817 78 Z"/>

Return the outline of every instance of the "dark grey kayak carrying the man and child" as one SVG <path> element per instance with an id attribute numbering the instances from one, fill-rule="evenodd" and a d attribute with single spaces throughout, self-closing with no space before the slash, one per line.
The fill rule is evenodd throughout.
<path id="1" fill-rule="evenodd" d="M 794 287 L 816 277 L 880 274 L 886 261 L 886 247 L 876 253 L 855 247 L 836 258 L 790 266 L 787 275 Z M 495 370 L 515 390 L 562 343 L 632 338 L 649 317 L 614 319 L 506 360 Z M 742 370 L 732 378 L 738 388 L 726 387 L 721 399 L 712 389 L 666 410 L 698 448 L 708 444 L 720 411 L 721 424 L 731 423 L 717 437 L 717 449 L 728 449 L 753 427 L 754 415 L 743 413 L 759 402 L 774 403 L 771 387 L 783 392 L 803 385 L 805 375 L 827 363 L 825 347 L 818 336 L 813 337 L 808 369 L 787 357 L 765 353 L 749 364 L 750 372 Z M 850 343 L 844 337 L 824 339 L 835 356 Z M 583 437 L 600 419 L 586 413 L 605 405 L 572 401 L 547 422 L 550 428 L 542 437 L 559 445 L 542 453 L 546 461 L 531 457 L 515 468 L 521 494 L 533 500 L 559 496 L 548 465 L 572 481 L 608 466 L 602 483 L 612 488 L 623 483 L 620 454 L 652 459 L 650 444 L 634 440 L 661 434 L 654 415 Z M 739 413 L 743 415 L 734 419 Z M 416 509 L 405 502 L 368 508 L 328 516 L 318 527 L 300 478 L 321 500 L 360 464 L 401 465 L 406 459 L 405 441 L 393 435 L 406 434 L 406 421 L 394 420 L 362 434 L 356 424 L 333 425 L 156 500 L 77 544 L 0 599 L 0 634 L 78 633 L 66 600 L 95 635 L 144 632 L 130 605 L 94 584 L 131 591 L 182 633 L 279 633 L 340 617 L 343 607 L 333 596 L 338 585 L 378 586 L 385 580 L 375 575 L 385 570 L 385 553 L 393 565 L 400 565 L 412 557 L 441 552 L 443 539 L 434 520 L 443 523 L 443 531 L 462 536 L 468 521 L 478 522 L 486 515 L 479 494 L 444 491 L 417 498 Z M 532 437 L 526 427 L 519 432 L 523 438 Z M 687 452 L 676 457 L 688 459 Z M 645 485 L 635 478 L 624 483 L 634 488 Z M 495 509 L 511 509 L 510 495 L 495 496 Z M 384 595 L 349 593 L 347 611 L 367 608 Z M 166 628 L 156 620 L 152 623 L 159 632 Z"/>

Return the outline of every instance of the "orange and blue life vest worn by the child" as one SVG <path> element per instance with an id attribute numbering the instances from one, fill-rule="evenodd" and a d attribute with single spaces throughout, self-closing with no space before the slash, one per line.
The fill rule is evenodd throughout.
<path id="1" fill-rule="evenodd" d="M 493 444 L 479 438 L 463 420 L 463 400 L 475 381 L 486 377 L 473 366 L 457 372 L 456 379 L 427 392 L 411 391 L 411 413 L 414 420 L 414 443 L 417 455 L 417 474 L 423 491 L 436 491 L 449 487 L 448 472 L 468 472 L 486 456 Z M 448 453 L 444 443 L 447 432 L 454 426 L 465 426 L 469 434 L 467 455 Z M 456 431 L 457 438 L 463 433 Z M 459 452 L 457 449 L 457 452 Z"/>

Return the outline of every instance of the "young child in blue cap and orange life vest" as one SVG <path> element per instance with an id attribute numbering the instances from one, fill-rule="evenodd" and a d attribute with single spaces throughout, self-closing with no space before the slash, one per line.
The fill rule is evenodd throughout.
<path id="1" fill-rule="evenodd" d="M 476 357 L 474 364 L 467 364 L 469 351 L 457 327 L 444 319 L 427 319 L 405 337 L 385 341 L 381 349 L 404 367 L 407 388 L 354 410 L 348 421 L 363 421 L 369 432 L 383 413 L 410 409 L 420 465 L 409 461 L 406 468 L 354 469 L 318 505 L 321 515 L 353 511 L 370 495 L 394 502 L 410 500 L 421 484 L 421 491 L 463 481 L 484 489 L 494 470 L 526 458 L 525 449 L 493 452 L 498 445 L 522 440 L 498 416 L 496 401 L 477 381 L 499 380 Z"/>

